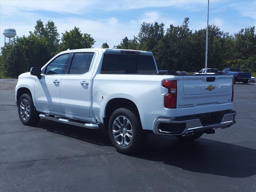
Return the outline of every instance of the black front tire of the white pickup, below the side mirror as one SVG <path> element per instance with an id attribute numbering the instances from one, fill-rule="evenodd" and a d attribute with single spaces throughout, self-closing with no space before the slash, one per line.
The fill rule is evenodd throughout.
<path id="1" fill-rule="evenodd" d="M 25 110 L 27 110 L 28 112 L 26 112 L 24 109 L 22 109 L 20 107 L 20 106 L 23 106 L 24 102 L 26 103 L 26 101 L 28 101 L 29 109 L 25 109 Z M 24 108 L 26 108 L 26 104 L 25 104 Z M 24 115 L 24 113 L 22 113 L 23 111 L 25 111 L 25 113 L 27 113 L 27 115 L 26 114 Z M 29 115 L 28 115 L 28 113 L 29 113 Z M 22 96 L 20 96 L 20 99 L 18 101 L 18 114 L 19 114 L 21 122 L 24 125 L 33 126 L 39 122 L 39 120 L 40 120 L 39 113 L 35 110 L 32 97 L 29 94 L 25 93 L 25 94 L 22 94 Z M 24 116 L 22 116 L 22 114 Z"/>

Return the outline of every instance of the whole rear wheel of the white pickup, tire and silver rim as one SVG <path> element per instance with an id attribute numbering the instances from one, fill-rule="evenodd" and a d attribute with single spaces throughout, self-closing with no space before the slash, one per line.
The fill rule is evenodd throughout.
<path id="1" fill-rule="evenodd" d="M 108 133 L 116 150 L 124 154 L 138 152 L 147 139 L 138 116 L 127 108 L 119 108 L 112 113 Z"/>

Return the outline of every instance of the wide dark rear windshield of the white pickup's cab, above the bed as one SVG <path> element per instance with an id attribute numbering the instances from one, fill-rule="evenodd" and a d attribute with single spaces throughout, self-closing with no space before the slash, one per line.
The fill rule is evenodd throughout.
<path id="1" fill-rule="evenodd" d="M 153 56 L 134 54 L 104 54 L 103 74 L 156 74 Z"/>

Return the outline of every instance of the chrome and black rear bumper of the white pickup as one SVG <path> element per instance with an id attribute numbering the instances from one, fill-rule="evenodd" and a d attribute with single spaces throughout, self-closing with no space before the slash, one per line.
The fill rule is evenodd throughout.
<path id="1" fill-rule="evenodd" d="M 212 122 L 204 122 L 201 117 L 204 115 L 214 115 L 216 118 Z M 186 116 L 176 119 L 158 118 L 154 123 L 154 133 L 160 135 L 182 135 L 189 132 L 204 132 L 209 129 L 227 128 L 235 124 L 236 111 L 220 111 L 212 114 L 199 114 L 196 116 Z"/>

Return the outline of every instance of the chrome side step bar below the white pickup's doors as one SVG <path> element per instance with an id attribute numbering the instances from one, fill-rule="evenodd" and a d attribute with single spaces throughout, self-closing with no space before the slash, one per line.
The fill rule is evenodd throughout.
<path id="1" fill-rule="evenodd" d="M 89 128 L 89 129 L 98 129 L 99 128 L 99 125 L 96 123 L 82 122 L 82 121 L 71 120 L 71 119 L 63 118 L 63 117 L 56 118 L 56 117 L 48 116 L 48 115 L 42 114 L 42 113 L 39 114 L 39 117 L 42 119 L 52 120 L 52 121 L 56 121 L 56 122 L 66 123 L 66 124 L 80 126 L 80 127 Z"/>

